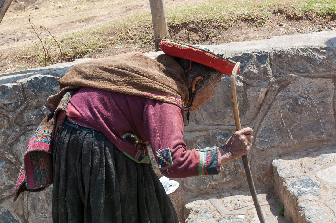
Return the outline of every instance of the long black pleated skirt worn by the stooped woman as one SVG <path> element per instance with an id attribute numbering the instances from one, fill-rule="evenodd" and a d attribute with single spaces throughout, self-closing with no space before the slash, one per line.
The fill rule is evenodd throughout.
<path id="1" fill-rule="evenodd" d="M 151 164 L 129 159 L 98 131 L 66 122 L 53 165 L 54 223 L 178 222 Z"/>

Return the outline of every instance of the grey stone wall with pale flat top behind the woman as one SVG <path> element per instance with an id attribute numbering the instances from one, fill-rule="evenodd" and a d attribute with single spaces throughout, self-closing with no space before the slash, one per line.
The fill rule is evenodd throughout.
<path id="1" fill-rule="evenodd" d="M 238 105 L 242 127 L 254 129 L 248 156 L 258 190 L 273 190 L 272 160 L 335 145 L 335 31 L 207 47 L 242 63 Z M 48 113 L 46 98 L 78 62 L 0 75 L 1 222 L 51 222 L 51 187 L 25 192 L 13 203 L 14 184 L 30 137 Z M 229 76 L 224 76 L 215 97 L 191 114 L 184 129 L 189 148 L 221 146 L 234 132 L 229 88 Z M 240 159 L 222 165 L 217 176 L 177 181 L 180 187 L 170 197 L 180 222 L 188 217 L 184 206 L 191 199 L 247 187 Z"/>

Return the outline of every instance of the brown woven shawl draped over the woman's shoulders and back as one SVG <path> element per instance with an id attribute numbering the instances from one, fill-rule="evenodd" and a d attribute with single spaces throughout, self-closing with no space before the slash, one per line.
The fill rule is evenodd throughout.
<path id="1" fill-rule="evenodd" d="M 167 54 L 151 59 L 133 52 L 90 60 L 70 68 L 58 83 L 61 91 L 48 98 L 51 110 L 66 92 L 80 87 L 153 98 L 182 108 L 189 97 L 182 67 Z"/>

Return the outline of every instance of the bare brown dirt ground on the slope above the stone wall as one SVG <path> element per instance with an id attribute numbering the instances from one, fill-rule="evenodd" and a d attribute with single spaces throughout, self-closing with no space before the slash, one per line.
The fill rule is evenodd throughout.
<path id="1" fill-rule="evenodd" d="M 165 0 L 166 7 L 174 6 L 192 0 Z M 194 0 L 200 1 L 200 0 Z M 51 28 L 55 35 L 62 36 L 89 27 L 112 22 L 132 13 L 149 11 L 148 0 L 13 0 L 5 17 L 0 24 L 0 34 L 30 32 L 28 15 L 30 13 L 36 27 Z M 290 11 L 270 11 L 270 17 L 263 21 L 254 18 L 237 18 L 230 25 L 223 25 L 213 21 L 200 25 L 199 22 L 168 24 L 170 38 L 189 44 L 220 44 L 228 42 L 242 42 L 249 40 L 267 39 L 272 36 L 300 34 L 318 25 L 332 24 L 335 18 L 321 18 L 310 14 L 297 16 Z M 335 23 L 335 22 L 334 22 Z M 322 26 L 322 29 L 336 28 L 336 26 Z M 40 29 L 42 30 L 42 29 Z M 118 34 L 122 27 L 116 27 L 107 35 L 111 38 Z M 129 35 L 145 33 L 153 36 L 152 26 L 135 27 L 128 31 Z M 20 35 L 20 39 L 36 41 L 35 34 Z M 11 37 L 13 36 L 3 36 Z M 16 36 L 17 38 L 17 36 Z M 152 47 L 154 42 L 151 41 Z M 40 67 L 43 64 L 34 56 L 17 56 L 24 47 L 33 45 L 30 42 L 13 41 L 0 38 L 0 73 Z M 121 46 L 126 46 L 121 45 Z M 99 58 L 127 51 L 139 50 L 136 48 L 95 50 L 88 54 L 75 54 L 63 58 L 63 62 L 81 57 Z M 148 52 L 148 50 L 143 50 Z M 151 50 L 153 51 L 153 50 Z M 60 62 L 53 61 L 53 63 Z"/>

